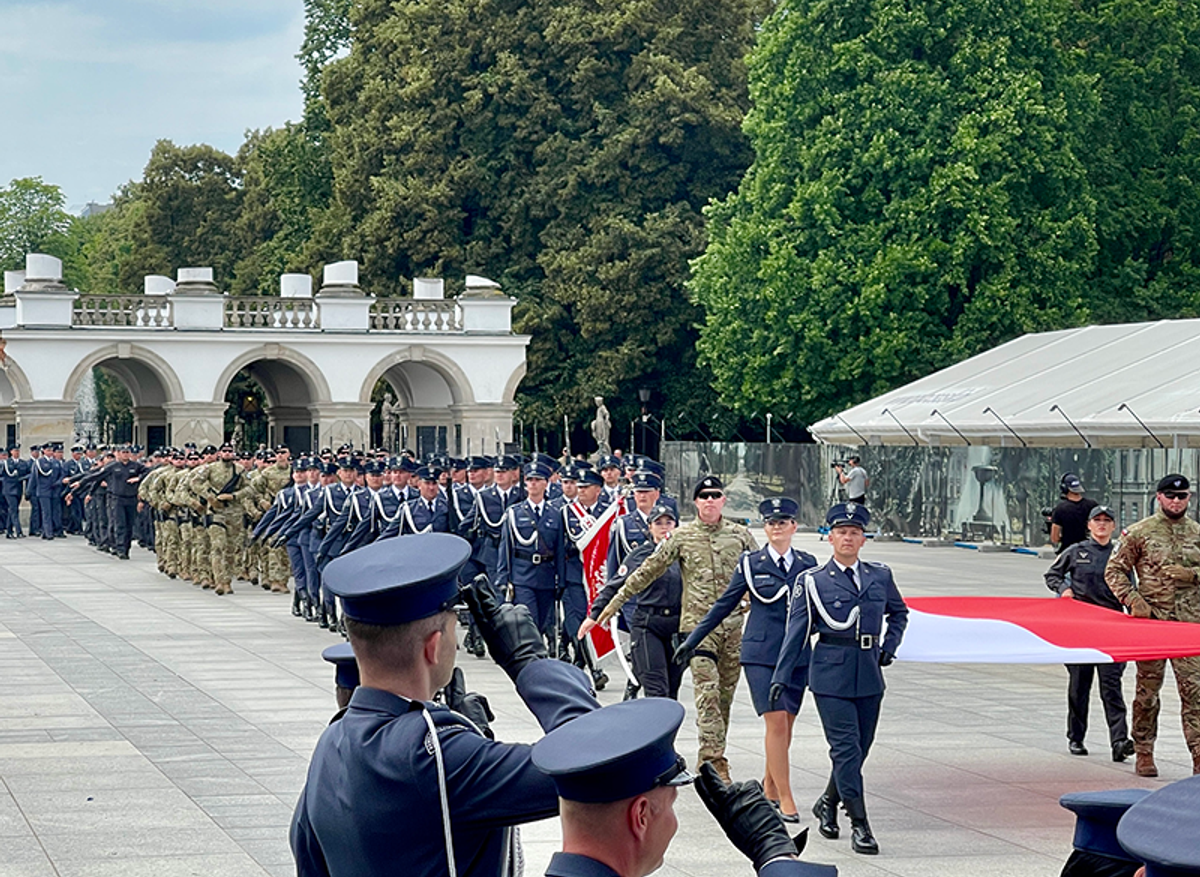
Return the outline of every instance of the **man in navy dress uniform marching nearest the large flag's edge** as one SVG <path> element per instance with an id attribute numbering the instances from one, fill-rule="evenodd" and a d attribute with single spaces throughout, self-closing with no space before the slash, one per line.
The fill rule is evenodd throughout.
<path id="1" fill-rule="evenodd" d="M 829 785 L 812 813 L 821 834 L 836 837 L 840 800 L 850 816 L 851 848 L 874 855 L 880 847 L 866 822 L 863 762 L 880 721 L 882 668 L 895 657 L 908 624 L 908 607 L 892 570 L 858 557 L 870 519 L 870 512 L 858 503 L 839 503 L 826 515 L 833 558 L 805 571 L 792 593 L 787 635 L 770 680 L 770 703 L 782 702 L 796 668 L 806 663 L 809 690 L 833 761 Z M 814 633 L 818 635 L 815 645 Z"/>

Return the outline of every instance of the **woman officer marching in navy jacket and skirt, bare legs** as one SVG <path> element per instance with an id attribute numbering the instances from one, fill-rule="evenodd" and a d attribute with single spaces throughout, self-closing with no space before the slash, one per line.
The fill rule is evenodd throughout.
<path id="1" fill-rule="evenodd" d="M 796 801 L 792 799 L 792 782 L 788 774 L 787 750 L 792 744 L 792 726 L 800 711 L 808 667 L 799 665 L 784 687 L 779 702 L 770 704 L 770 680 L 779 660 L 787 627 L 787 605 L 792 585 L 804 570 L 817 565 L 817 559 L 808 552 L 792 548 L 796 534 L 796 513 L 799 504 L 788 497 L 764 499 L 758 504 L 767 546 L 748 551 L 738 561 L 728 588 L 713 603 L 703 620 L 684 641 L 676 653 L 676 661 L 686 663 L 691 653 L 725 618 L 737 608 L 750 591 L 750 614 L 742 629 L 742 671 L 750 686 L 750 699 L 755 711 L 767 725 L 767 776 L 763 789 L 767 798 L 776 801 L 784 822 L 799 822 Z"/>

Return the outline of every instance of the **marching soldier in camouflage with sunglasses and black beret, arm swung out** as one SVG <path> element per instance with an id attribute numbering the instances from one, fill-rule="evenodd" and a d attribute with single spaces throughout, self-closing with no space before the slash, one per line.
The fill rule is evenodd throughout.
<path id="1" fill-rule="evenodd" d="M 654 553 L 635 570 L 596 619 L 606 624 L 634 594 L 643 590 L 679 561 L 683 575 L 683 602 L 679 635 L 686 636 L 700 624 L 725 593 L 742 552 L 758 546 L 742 524 L 721 517 L 725 486 L 714 475 L 701 479 L 691 493 L 697 518 L 664 540 Z M 739 606 L 700 643 L 691 659 L 691 678 L 696 695 L 696 727 L 700 734 L 700 762 L 712 762 L 716 773 L 730 779 L 725 758 L 725 735 L 730 727 L 730 707 L 742 673 L 742 617 Z"/>

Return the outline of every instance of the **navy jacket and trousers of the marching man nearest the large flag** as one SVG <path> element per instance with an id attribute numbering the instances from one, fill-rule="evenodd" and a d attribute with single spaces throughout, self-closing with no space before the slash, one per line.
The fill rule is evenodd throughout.
<path id="1" fill-rule="evenodd" d="M 772 678 L 772 683 L 790 685 L 796 668 L 808 665 L 809 690 L 829 744 L 838 793 L 846 801 L 863 798 L 863 762 L 875 740 L 883 701 L 880 651 L 895 654 L 908 624 L 908 608 L 892 570 L 859 560 L 858 576 L 856 585 L 850 571 L 835 560 L 800 576 Z M 881 645 L 884 619 L 888 631 Z M 816 644 L 814 633 L 818 635 Z"/>

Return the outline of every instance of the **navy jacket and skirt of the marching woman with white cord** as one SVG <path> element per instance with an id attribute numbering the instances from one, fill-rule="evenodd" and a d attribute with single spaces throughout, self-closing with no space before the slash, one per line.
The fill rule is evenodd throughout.
<path id="1" fill-rule="evenodd" d="M 785 573 L 766 546 L 745 552 L 725 593 L 688 636 L 691 642 L 703 642 L 740 605 L 746 591 L 750 593 L 750 614 L 742 629 L 742 667 L 758 715 L 770 710 L 770 680 L 787 631 L 788 596 L 797 578 L 817 565 L 817 559 L 805 551 L 788 548 L 788 555 L 791 563 Z M 800 711 L 806 675 L 808 667 L 798 662 L 787 681 L 784 699 L 775 704 L 775 709 L 792 715 Z"/>

